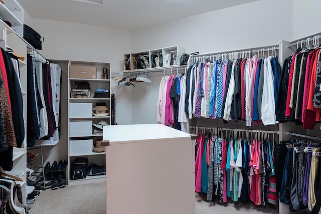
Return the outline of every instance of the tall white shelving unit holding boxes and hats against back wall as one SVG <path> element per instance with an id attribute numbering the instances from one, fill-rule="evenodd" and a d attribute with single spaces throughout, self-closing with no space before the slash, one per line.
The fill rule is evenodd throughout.
<path id="1" fill-rule="evenodd" d="M 107 80 L 102 79 L 102 69 L 103 68 L 108 68 L 108 71 L 110 71 L 110 64 L 109 63 L 104 63 L 104 62 L 80 62 L 80 61 L 69 61 L 68 63 L 68 77 L 70 77 L 70 66 L 94 66 L 97 68 L 97 79 L 83 79 L 83 78 L 69 78 L 68 79 L 68 161 L 69 163 L 72 163 L 73 160 L 76 157 L 87 157 L 89 162 L 95 163 L 97 165 L 104 165 L 105 160 L 106 160 L 106 152 L 93 152 L 93 145 L 96 140 L 101 140 L 102 139 L 102 134 L 93 134 L 93 123 L 98 123 L 101 120 L 106 121 L 108 125 L 111 124 L 111 102 L 110 98 L 95 98 L 95 91 L 96 89 L 102 88 L 104 90 L 109 91 L 109 95 L 111 95 L 110 92 L 110 79 L 108 77 Z M 75 82 L 88 82 L 90 85 L 90 92 L 91 96 L 90 98 L 70 98 L 70 92 L 73 89 L 73 86 Z M 106 103 L 107 108 L 109 109 L 109 115 L 108 116 L 93 116 L 92 112 L 86 113 L 87 116 L 77 116 L 77 117 L 72 117 L 71 116 L 71 110 L 70 104 L 71 103 L 77 103 L 78 104 L 84 104 L 88 106 L 88 103 L 91 103 L 91 109 L 95 107 L 96 103 Z M 85 109 L 85 108 L 84 108 Z M 84 109 L 79 109 L 83 110 Z M 87 110 L 86 110 L 87 112 Z M 89 122 L 90 123 L 90 128 L 86 127 L 82 130 L 80 133 L 73 134 L 71 133 L 71 126 L 75 124 L 75 122 Z M 77 124 L 76 124 L 77 125 Z M 87 124 L 88 125 L 88 124 Z M 90 130 L 88 130 L 90 129 Z M 87 140 L 84 142 L 84 140 Z M 90 143 L 92 143 L 90 146 L 88 143 L 90 140 Z M 83 147 L 85 150 L 82 152 L 77 152 L 73 150 L 74 147 L 70 146 L 71 141 L 74 143 L 79 143 L 79 146 L 77 145 L 77 151 L 81 147 Z M 69 168 L 70 168 L 69 164 Z M 99 182 L 99 181 L 104 181 L 106 179 L 105 175 L 100 175 L 100 176 L 87 176 L 84 179 L 78 179 L 78 180 L 71 180 L 69 177 L 69 170 L 67 170 L 67 177 L 68 177 L 68 184 L 69 185 L 77 185 L 77 184 L 84 184 L 84 183 L 92 183 L 92 182 Z"/>

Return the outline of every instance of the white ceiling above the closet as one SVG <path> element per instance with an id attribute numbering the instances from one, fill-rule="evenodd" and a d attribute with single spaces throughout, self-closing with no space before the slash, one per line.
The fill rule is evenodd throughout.
<path id="1" fill-rule="evenodd" d="M 103 0 L 102 4 L 90 1 L 99 2 L 19 0 L 32 18 L 124 29 L 145 28 L 257 0 Z"/>

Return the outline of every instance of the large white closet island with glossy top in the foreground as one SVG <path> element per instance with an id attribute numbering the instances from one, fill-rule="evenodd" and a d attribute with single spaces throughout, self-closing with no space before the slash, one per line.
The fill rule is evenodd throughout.
<path id="1" fill-rule="evenodd" d="M 103 127 L 106 213 L 195 213 L 191 135 L 161 124 Z"/>

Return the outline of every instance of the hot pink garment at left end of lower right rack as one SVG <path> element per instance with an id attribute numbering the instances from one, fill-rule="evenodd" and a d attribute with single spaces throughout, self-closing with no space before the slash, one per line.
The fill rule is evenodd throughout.
<path id="1" fill-rule="evenodd" d="M 202 191 L 202 154 L 203 154 L 203 142 L 205 135 L 199 136 L 196 140 L 199 144 L 199 149 L 197 150 L 196 160 L 195 160 L 195 191 Z"/>

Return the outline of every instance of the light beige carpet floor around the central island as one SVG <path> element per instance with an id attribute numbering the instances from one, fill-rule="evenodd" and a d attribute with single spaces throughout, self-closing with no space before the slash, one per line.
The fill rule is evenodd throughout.
<path id="1" fill-rule="evenodd" d="M 36 197 L 29 214 L 102 214 L 106 212 L 105 183 L 91 183 L 67 186 L 65 188 L 47 189 Z M 252 203 L 219 203 L 206 201 L 205 194 L 195 193 L 195 208 L 197 214 L 209 213 L 278 213 L 273 205 L 255 206 Z M 170 214 L 170 213 L 166 213 Z M 175 213 L 184 214 L 184 213 Z"/>

